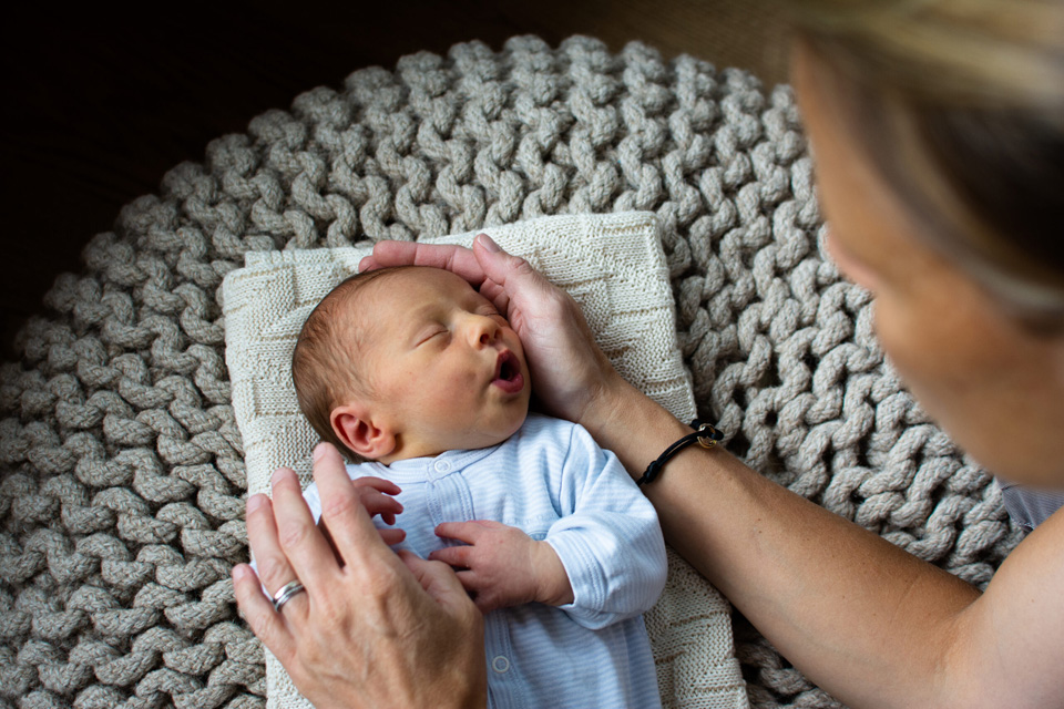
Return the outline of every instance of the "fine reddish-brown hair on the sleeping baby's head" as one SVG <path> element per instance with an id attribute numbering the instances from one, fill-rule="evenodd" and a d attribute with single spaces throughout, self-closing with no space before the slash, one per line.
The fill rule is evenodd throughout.
<path id="1" fill-rule="evenodd" d="M 361 456 L 340 441 L 330 421 L 344 400 L 371 391 L 369 377 L 358 367 L 362 341 L 355 322 L 359 312 L 355 297 L 378 278 L 409 268 L 380 268 L 342 280 L 307 316 L 291 352 L 291 381 L 303 415 L 323 441 L 359 462 Z"/>

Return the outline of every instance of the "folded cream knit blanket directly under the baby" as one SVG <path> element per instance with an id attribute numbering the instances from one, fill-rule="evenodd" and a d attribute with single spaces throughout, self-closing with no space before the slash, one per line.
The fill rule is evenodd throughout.
<path id="1" fill-rule="evenodd" d="M 628 381 L 675 415 L 695 415 L 653 213 L 543 217 L 485 230 L 573 295 Z M 422 242 L 468 246 L 475 234 Z M 279 465 L 293 466 L 304 485 L 310 480 L 318 436 L 296 402 L 291 349 L 314 306 L 356 273 L 370 248 L 249 253 L 247 266 L 225 279 L 226 363 L 249 494 L 268 492 Z M 666 707 L 747 706 L 727 602 L 675 553 L 665 593 L 646 625 Z M 269 655 L 266 670 L 269 707 L 308 706 Z"/>

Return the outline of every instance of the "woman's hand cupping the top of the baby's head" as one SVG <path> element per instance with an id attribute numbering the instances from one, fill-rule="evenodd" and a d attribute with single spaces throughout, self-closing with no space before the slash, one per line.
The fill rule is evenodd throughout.
<path id="1" fill-rule="evenodd" d="M 524 346 L 533 389 L 548 413 L 586 425 L 613 405 L 610 394 L 623 388 L 624 380 L 595 343 L 580 306 L 523 258 L 480 234 L 472 250 L 380 242 L 359 270 L 408 265 L 453 271 L 505 314 Z"/>

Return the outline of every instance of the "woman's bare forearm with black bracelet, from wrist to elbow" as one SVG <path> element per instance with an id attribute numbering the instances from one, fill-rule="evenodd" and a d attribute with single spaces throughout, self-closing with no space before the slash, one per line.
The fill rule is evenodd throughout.
<path id="1" fill-rule="evenodd" d="M 581 423 L 633 476 L 690 432 L 628 384 L 606 399 Z M 644 492 L 665 540 L 810 679 L 856 706 L 938 706 L 971 586 L 723 450 L 689 446 Z"/>

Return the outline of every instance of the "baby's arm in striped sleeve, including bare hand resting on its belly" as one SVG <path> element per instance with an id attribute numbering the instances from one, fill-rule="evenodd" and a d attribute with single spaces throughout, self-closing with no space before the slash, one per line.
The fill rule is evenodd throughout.
<path id="1" fill-rule="evenodd" d="M 574 427 L 552 480 L 563 516 L 544 541 L 499 522 L 451 522 L 436 533 L 468 546 L 429 558 L 462 569 L 459 579 L 484 613 L 535 600 L 600 628 L 649 609 L 665 585 L 665 543 L 654 507 L 616 456 Z"/>

